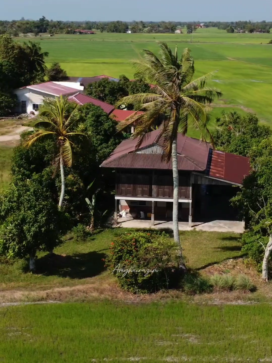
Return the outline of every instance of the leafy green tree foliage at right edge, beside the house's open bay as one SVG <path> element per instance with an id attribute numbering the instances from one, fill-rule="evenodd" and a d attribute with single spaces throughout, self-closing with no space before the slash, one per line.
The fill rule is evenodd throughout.
<path id="1" fill-rule="evenodd" d="M 241 242 L 243 250 L 253 258 L 260 269 L 264 246 L 272 229 L 272 142 L 264 139 L 249 152 L 252 172 L 243 180 L 241 191 L 232 198 L 232 204 L 241 211 L 247 230 Z M 271 262 L 270 262 L 271 265 Z"/>

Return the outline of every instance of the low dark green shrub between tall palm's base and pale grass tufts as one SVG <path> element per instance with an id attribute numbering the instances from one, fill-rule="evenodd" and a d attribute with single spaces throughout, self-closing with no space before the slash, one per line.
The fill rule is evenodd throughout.
<path id="1" fill-rule="evenodd" d="M 212 292 L 212 285 L 208 278 L 198 277 L 192 274 L 184 276 L 181 287 L 188 295 Z"/>

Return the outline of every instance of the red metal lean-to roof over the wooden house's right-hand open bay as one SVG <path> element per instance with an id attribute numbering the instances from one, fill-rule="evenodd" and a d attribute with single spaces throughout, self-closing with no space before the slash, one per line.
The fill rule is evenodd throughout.
<path id="1" fill-rule="evenodd" d="M 250 172 L 249 158 L 212 150 L 209 176 L 241 184 Z"/>

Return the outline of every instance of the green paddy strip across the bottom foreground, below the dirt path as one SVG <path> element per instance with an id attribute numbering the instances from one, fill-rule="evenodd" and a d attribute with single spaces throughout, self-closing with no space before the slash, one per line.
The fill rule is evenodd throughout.
<path id="1" fill-rule="evenodd" d="M 5 363 L 270 362 L 271 306 L 66 303 L 0 310 Z"/>

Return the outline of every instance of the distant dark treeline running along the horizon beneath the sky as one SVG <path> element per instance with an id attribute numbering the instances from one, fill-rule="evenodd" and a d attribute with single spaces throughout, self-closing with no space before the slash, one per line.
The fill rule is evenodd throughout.
<path id="1" fill-rule="evenodd" d="M 0 34 L 9 33 L 13 36 L 27 33 L 65 33 L 73 34 L 76 30 L 100 30 L 101 32 L 109 33 L 125 33 L 127 30 L 131 30 L 134 33 L 140 32 L 169 32 L 173 33 L 177 28 L 187 27 L 187 29 L 196 29 L 196 26 L 202 24 L 207 28 L 214 27 L 218 29 L 244 29 L 248 32 L 254 32 L 255 30 L 264 30 L 269 32 L 272 27 L 272 21 L 266 22 L 251 22 L 251 21 L 208 21 L 208 22 L 182 22 L 182 21 L 160 21 L 160 22 L 143 22 L 132 21 L 130 23 L 124 21 L 60 21 L 60 20 L 48 20 L 42 16 L 39 20 L 20 20 L 12 21 L 0 21 Z"/>

